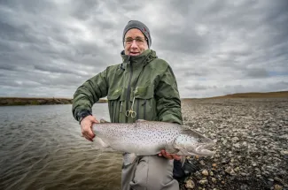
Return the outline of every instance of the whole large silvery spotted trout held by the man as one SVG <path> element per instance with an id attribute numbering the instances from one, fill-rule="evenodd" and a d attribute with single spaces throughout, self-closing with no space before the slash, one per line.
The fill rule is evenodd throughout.
<path id="1" fill-rule="evenodd" d="M 214 156 L 213 140 L 186 125 L 137 119 L 135 123 L 110 123 L 104 119 L 92 126 L 95 144 L 103 151 L 122 153 L 124 164 L 136 156 L 158 155 L 162 149 L 182 156 Z"/>

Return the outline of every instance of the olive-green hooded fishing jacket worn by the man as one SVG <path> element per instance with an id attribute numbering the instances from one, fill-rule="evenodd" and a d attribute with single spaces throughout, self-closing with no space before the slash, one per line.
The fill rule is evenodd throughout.
<path id="1" fill-rule="evenodd" d="M 111 122 L 133 123 L 136 119 L 183 124 L 181 101 L 175 75 L 166 61 L 147 49 L 136 57 L 123 55 L 122 64 L 108 66 L 78 87 L 74 93 L 73 114 L 89 110 L 107 96 Z M 136 118 L 126 117 L 135 96 Z"/>

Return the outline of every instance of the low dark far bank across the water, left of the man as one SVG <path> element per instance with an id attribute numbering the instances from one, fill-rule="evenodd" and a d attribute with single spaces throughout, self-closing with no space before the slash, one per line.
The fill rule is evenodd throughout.
<path id="1" fill-rule="evenodd" d="M 55 97 L 0 97 L 0 106 L 72 104 L 72 101 L 73 99 Z M 100 99 L 97 103 L 107 103 L 107 101 L 105 99 Z"/>

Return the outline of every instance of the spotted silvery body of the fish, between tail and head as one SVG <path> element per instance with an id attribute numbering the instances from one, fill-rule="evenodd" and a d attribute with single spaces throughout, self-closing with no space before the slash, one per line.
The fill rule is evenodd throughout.
<path id="1" fill-rule="evenodd" d="M 181 125 L 140 121 L 133 124 L 104 123 L 93 126 L 94 133 L 106 145 L 136 155 L 155 155 L 161 149 L 173 150 Z"/>

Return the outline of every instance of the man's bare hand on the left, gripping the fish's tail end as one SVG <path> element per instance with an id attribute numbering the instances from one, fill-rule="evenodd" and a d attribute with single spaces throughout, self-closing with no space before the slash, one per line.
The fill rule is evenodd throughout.
<path id="1" fill-rule="evenodd" d="M 82 136 L 85 137 L 88 141 L 93 141 L 95 134 L 92 131 L 92 125 L 99 123 L 96 118 L 93 116 L 87 116 L 81 121 L 81 131 Z"/>

